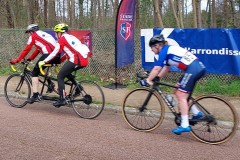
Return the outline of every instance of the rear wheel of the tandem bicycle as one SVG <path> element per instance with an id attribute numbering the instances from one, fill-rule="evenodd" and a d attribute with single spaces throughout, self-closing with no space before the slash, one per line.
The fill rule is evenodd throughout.
<path id="1" fill-rule="evenodd" d="M 71 104 L 74 111 L 81 117 L 93 119 L 99 116 L 105 106 L 105 97 L 101 87 L 89 80 L 79 82 L 81 93 L 74 95 L 77 86 L 71 95 Z"/>

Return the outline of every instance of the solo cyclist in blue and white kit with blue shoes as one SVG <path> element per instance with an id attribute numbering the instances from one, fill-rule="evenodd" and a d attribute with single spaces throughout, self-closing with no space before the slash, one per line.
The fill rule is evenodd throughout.
<path id="1" fill-rule="evenodd" d="M 178 135 L 182 132 L 190 132 L 188 97 L 193 91 L 196 82 L 205 74 L 206 68 L 188 50 L 179 46 L 167 45 L 162 34 L 153 36 L 149 41 L 149 46 L 155 54 L 155 61 L 154 67 L 147 78 L 148 84 L 152 85 L 155 77 L 164 77 L 170 66 L 176 66 L 184 72 L 184 75 L 177 83 L 178 89 L 175 91 L 181 112 L 181 125 L 173 129 L 172 132 Z M 202 113 L 196 107 L 192 107 L 191 112 L 195 114 L 192 117 L 193 119 L 202 117 Z"/>

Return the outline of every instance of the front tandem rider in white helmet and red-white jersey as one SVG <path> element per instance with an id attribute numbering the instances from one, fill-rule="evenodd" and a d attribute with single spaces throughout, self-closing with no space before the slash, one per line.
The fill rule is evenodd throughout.
<path id="1" fill-rule="evenodd" d="M 27 56 L 27 54 L 31 51 L 32 47 L 35 46 L 36 49 L 33 51 L 31 56 L 27 59 L 28 61 L 34 60 L 39 53 L 42 54 L 42 56 L 39 58 L 38 62 L 45 59 L 49 53 L 51 53 L 56 45 L 56 40 L 51 36 L 50 34 L 39 30 L 39 26 L 37 24 L 30 24 L 27 27 L 27 30 L 25 33 L 28 33 L 29 38 L 26 47 L 23 49 L 23 51 L 20 53 L 17 59 L 12 59 L 10 61 L 11 64 L 15 64 L 18 62 L 21 62 L 23 58 Z M 33 83 L 33 96 L 28 100 L 29 103 L 34 103 L 35 101 L 40 100 L 40 95 L 38 93 L 38 75 L 40 74 L 40 70 L 38 67 L 38 62 L 36 63 L 33 71 L 32 71 L 32 83 Z M 56 57 L 51 61 L 53 64 L 60 63 L 60 57 Z M 53 87 L 53 83 L 48 81 Z M 51 92 L 51 89 L 47 92 Z"/>

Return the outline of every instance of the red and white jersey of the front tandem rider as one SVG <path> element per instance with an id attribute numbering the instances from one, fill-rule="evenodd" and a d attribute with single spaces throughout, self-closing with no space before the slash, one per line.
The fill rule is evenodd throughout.
<path id="1" fill-rule="evenodd" d="M 31 60 L 33 60 L 39 53 L 51 53 L 54 50 L 56 44 L 57 42 L 52 35 L 44 31 L 38 30 L 30 35 L 26 47 L 20 53 L 17 60 L 21 61 L 31 51 L 34 45 L 36 46 L 36 49 L 29 57 L 29 59 Z"/>

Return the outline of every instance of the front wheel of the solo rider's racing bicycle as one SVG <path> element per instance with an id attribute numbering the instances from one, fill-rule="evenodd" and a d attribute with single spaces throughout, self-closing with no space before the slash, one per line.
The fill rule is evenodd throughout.
<path id="1" fill-rule="evenodd" d="M 146 105 L 143 105 L 144 103 Z M 145 107 L 142 108 L 142 106 Z M 156 91 L 138 88 L 126 95 L 122 111 L 123 117 L 130 127 L 138 131 L 152 131 L 162 123 L 165 106 Z"/>

